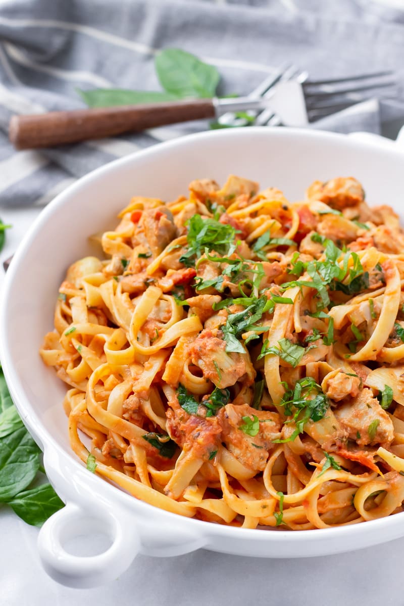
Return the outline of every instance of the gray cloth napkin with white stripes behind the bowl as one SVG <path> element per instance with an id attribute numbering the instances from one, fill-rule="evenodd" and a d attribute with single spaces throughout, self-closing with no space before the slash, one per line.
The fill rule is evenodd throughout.
<path id="1" fill-rule="evenodd" d="M 164 47 L 183 48 L 216 65 L 222 95 L 250 92 L 285 62 L 308 70 L 311 78 L 386 68 L 400 73 L 404 8 L 386 2 L 1 0 L 0 205 L 47 204 L 93 168 L 208 126 L 192 122 L 16 153 L 7 138 L 14 113 L 83 107 L 75 87 L 159 90 L 153 60 Z M 314 128 L 394 136 L 402 122 L 399 95 L 363 102 Z"/>

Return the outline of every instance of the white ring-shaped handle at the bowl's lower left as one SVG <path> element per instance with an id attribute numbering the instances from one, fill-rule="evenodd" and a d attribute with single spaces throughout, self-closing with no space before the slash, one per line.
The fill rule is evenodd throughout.
<path id="1" fill-rule="evenodd" d="M 47 573 L 67 587 L 96 587 L 113 581 L 130 566 L 139 553 L 139 536 L 133 524 L 109 511 L 88 513 L 68 502 L 42 526 L 38 536 L 39 556 Z M 107 535 L 110 546 L 102 553 L 76 556 L 64 544 L 75 537 Z M 94 537 L 94 534 L 93 534 Z"/>

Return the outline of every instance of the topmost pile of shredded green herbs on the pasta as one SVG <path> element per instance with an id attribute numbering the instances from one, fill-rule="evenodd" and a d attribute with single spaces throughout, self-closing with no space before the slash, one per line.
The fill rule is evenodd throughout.
<path id="1" fill-rule="evenodd" d="M 236 233 L 237 230 L 231 225 L 220 223 L 216 219 L 203 219 L 200 215 L 193 215 L 188 221 L 188 248 L 180 256 L 179 261 L 184 263 L 185 267 L 191 267 L 195 263 L 195 258 L 199 258 L 207 250 L 215 250 L 219 255 L 229 255 L 236 248 L 234 244 Z"/>

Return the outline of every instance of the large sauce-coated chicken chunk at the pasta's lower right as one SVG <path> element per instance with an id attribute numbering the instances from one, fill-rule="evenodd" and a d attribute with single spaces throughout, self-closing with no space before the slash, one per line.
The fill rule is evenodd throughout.
<path id="1" fill-rule="evenodd" d="M 394 439 L 394 427 L 388 414 L 368 388 L 360 391 L 347 404 L 336 408 L 334 415 L 340 426 L 348 432 L 348 438 L 361 446 L 390 444 Z"/>

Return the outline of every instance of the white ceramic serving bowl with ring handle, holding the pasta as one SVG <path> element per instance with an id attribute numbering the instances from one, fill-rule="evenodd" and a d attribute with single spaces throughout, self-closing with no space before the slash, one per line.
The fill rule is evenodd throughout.
<path id="1" fill-rule="evenodd" d="M 381 141 L 381 140 L 380 140 Z M 174 556 L 205 547 L 223 553 L 300 558 L 340 553 L 404 536 L 404 513 L 362 524 L 306 530 L 248 530 L 159 510 L 90 473 L 76 459 L 62 410 L 65 385 L 38 354 L 53 327 L 58 287 L 73 261 L 90 252 L 91 233 L 114 227 L 131 196 L 174 199 L 190 181 L 245 176 L 302 198 L 314 180 L 356 176 L 369 204 L 391 204 L 403 215 L 404 156 L 393 144 L 286 128 L 240 128 L 166 142 L 99 168 L 41 213 L 10 265 L 0 318 L 1 359 L 22 418 L 44 450 L 44 465 L 66 507 L 39 533 L 45 570 L 57 581 L 91 587 L 115 579 L 139 551 Z M 402 216 L 402 218 L 404 218 Z M 68 538 L 102 531 L 104 553 L 78 557 Z"/>

